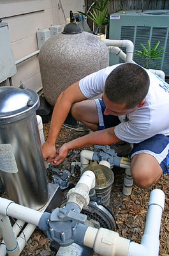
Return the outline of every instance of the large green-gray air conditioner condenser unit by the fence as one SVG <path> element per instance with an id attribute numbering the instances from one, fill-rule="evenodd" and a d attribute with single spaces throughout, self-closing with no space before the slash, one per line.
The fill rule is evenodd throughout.
<path id="1" fill-rule="evenodd" d="M 169 10 L 129 10 L 110 15 L 109 38 L 114 40 L 131 40 L 135 50 L 142 51 L 140 43 L 151 47 L 160 41 L 159 47 L 164 47 L 162 60 L 150 61 L 149 68 L 161 69 L 169 76 Z M 122 49 L 125 51 L 125 49 Z M 143 65 L 142 58 L 134 54 L 133 60 Z M 121 63 L 119 57 L 110 56 L 110 65 Z"/>

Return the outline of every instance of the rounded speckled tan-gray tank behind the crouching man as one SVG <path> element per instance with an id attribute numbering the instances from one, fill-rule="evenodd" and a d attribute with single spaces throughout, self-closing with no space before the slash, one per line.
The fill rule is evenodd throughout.
<path id="1" fill-rule="evenodd" d="M 108 47 L 96 35 L 64 31 L 49 38 L 39 54 L 43 93 L 52 106 L 68 86 L 109 65 Z"/>

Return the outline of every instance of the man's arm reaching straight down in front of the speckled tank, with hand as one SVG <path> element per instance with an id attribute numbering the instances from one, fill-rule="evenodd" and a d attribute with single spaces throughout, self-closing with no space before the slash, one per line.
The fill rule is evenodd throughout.
<path id="1" fill-rule="evenodd" d="M 48 163 L 50 163 L 55 156 L 55 142 L 72 104 L 85 99 L 86 97 L 84 97 L 80 91 L 78 82 L 69 86 L 59 95 L 52 114 L 47 141 L 42 145 L 43 158 L 47 159 Z"/>

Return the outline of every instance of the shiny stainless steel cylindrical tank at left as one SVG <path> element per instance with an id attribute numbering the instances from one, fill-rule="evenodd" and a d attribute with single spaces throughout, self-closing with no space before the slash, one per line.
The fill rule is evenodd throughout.
<path id="1" fill-rule="evenodd" d="M 39 96 L 30 89 L 0 88 L 0 144 L 10 145 L 18 172 L 3 172 L 0 177 L 6 197 L 17 204 L 39 210 L 49 198 L 45 163 L 36 120 Z M 9 152 L 5 151 L 9 164 Z M 2 157 L 1 157 L 2 158 Z"/>

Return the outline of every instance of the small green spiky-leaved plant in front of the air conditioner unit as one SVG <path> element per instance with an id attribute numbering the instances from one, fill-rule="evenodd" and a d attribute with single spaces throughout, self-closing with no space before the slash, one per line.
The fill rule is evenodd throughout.
<path id="1" fill-rule="evenodd" d="M 163 51 L 164 47 L 159 47 L 160 41 L 156 42 L 156 44 L 154 44 L 153 47 L 151 47 L 151 42 L 148 40 L 147 43 L 147 48 L 140 43 L 141 47 L 142 47 L 142 51 L 135 51 L 135 55 L 139 56 L 142 58 L 143 60 L 143 67 L 145 68 L 149 68 L 149 61 L 156 61 L 158 60 L 162 60 L 163 58 L 161 56 L 163 56 L 163 54 L 165 54 L 166 52 Z M 157 68 L 157 65 L 156 67 Z"/>

